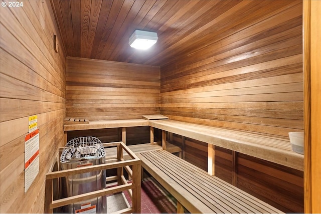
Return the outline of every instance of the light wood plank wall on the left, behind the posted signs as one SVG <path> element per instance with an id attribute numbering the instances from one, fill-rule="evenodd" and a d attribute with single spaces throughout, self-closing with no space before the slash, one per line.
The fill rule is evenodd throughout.
<path id="1" fill-rule="evenodd" d="M 53 47 L 59 31 L 49 1 L 1 7 L 0 212 L 42 213 L 45 174 L 64 145 L 64 49 Z M 40 171 L 24 193 L 24 144 L 29 116 L 38 115 Z"/>

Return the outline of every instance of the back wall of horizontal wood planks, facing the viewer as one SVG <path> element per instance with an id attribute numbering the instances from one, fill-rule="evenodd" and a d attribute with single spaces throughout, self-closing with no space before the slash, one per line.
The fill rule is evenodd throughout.
<path id="1" fill-rule="evenodd" d="M 159 67 L 67 58 L 67 117 L 136 119 L 159 114 Z"/>

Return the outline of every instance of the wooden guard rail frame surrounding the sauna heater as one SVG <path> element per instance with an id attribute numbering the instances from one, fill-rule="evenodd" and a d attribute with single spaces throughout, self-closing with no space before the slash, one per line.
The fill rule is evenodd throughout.
<path id="1" fill-rule="evenodd" d="M 113 194 L 122 191 L 128 191 L 132 199 L 132 207 L 119 210 L 120 213 L 132 213 L 140 212 L 140 181 L 141 181 L 141 165 L 140 159 L 123 143 L 113 142 L 104 143 L 104 147 L 117 146 L 117 159 L 116 162 L 110 162 L 95 166 L 86 166 L 75 169 L 61 170 L 50 172 L 46 174 L 46 190 L 45 190 L 45 211 L 46 213 L 52 213 L 54 208 L 68 205 L 71 203 L 80 202 L 83 200 L 91 199 L 94 197 L 100 197 L 107 194 Z M 131 160 L 123 159 L 123 150 L 132 158 Z M 132 166 L 132 170 L 129 166 Z M 96 190 L 84 194 L 70 196 L 62 199 L 53 200 L 53 180 L 56 178 L 71 176 L 75 174 L 100 171 L 106 169 L 117 168 L 117 176 L 107 177 L 106 180 L 117 179 L 118 185 L 114 187 L 107 187 L 105 189 Z M 129 177 L 132 179 L 132 183 L 128 183 L 123 175 L 123 170 L 128 172 Z"/>

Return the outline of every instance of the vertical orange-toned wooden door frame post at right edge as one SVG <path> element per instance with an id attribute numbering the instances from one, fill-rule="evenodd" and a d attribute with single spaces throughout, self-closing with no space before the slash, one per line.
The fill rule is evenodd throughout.
<path id="1" fill-rule="evenodd" d="M 320 147 L 320 25 L 321 4 L 318 1 L 303 3 L 303 68 L 304 68 L 304 212 L 321 211 Z"/>

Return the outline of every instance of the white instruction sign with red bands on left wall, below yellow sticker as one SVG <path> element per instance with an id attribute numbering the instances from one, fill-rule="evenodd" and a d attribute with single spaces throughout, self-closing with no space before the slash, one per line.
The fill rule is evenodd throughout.
<path id="1" fill-rule="evenodd" d="M 25 193 L 39 173 L 39 129 L 25 137 Z"/>

